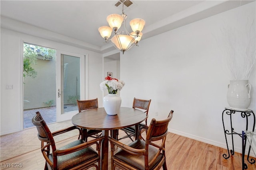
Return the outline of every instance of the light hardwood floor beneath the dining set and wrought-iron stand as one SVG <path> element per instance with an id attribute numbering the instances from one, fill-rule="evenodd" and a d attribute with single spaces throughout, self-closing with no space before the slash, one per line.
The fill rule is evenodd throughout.
<path id="1" fill-rule="evenodd" d="M 122 136 L 122 131 L 120 136 Z M 37 138 L 37 137 L 35 137 Z M 76 140 L 77 137 L 70 137 L 56 144 L 57 148 Z M 120 140 L 123 143 L 130 143 L 130 139 Z M 229 159 L 224 159 L 222 154 L 226 149 L 212 146 L 203 142 L 192 140 L 177 134 L 168 133 L 166 140 L 166 163 L 168 170 L 241 170 L 242 155 L 235 153 Z M 109 152 L 110 158 L 110 152 Z M 255 164 L 249 164 L 248 170 L 256 170 Z M 20 168 L 4 167 L 12 164 L 22 164 Z M 1 170 L 43 170 L 45 160 L 40 149 L 1 161 Z M 109 159 L 109 168 L 110 159 Z"/>

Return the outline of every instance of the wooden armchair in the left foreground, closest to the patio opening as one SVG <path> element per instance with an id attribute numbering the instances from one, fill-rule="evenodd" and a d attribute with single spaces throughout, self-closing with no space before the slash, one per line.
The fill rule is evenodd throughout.
<path id="1" fill-rule="evenodd" d="M 32 118 L 32 123 L 38 131 L 38 139 L 41 141 L 41 151 L 46 160 L 44 170 L 80 170 L 95 167 L 100 170 L 100 146 L 103 136 L 89 142 L 82 139 L 75 140 L 61 148 L 56 148 L 54 136 L 78 130 L 80 128 L 72 126 L 56 132 L 51 132 L 40 112 Z M 92 148 L 95 146 L 96 150 Z M 50 153 L 50 151 L 52 151 Z"/>

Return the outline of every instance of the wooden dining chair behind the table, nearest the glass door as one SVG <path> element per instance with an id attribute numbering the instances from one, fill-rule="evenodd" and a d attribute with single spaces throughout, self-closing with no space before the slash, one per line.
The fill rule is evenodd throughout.
<path id="1" fill-rule="evenodd" d="M 98 108 L 98 98 L 91 99 L 91 100 L 76 100 L 76 102 L 77 102 L 79 113 L 84 110 Z M 83 130 L 83 136 L 85 141 L 87 141 L 88 137 L 98 138 L 101 135 L 102 135 L 101 130 L 89 130 L 89 129 Z"/>

